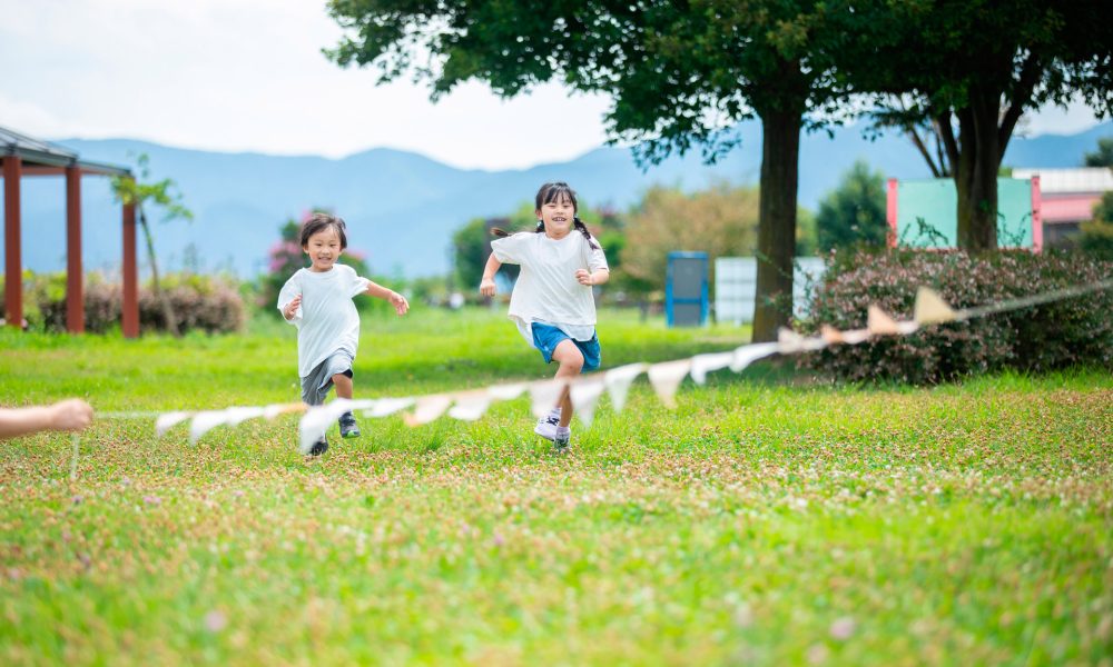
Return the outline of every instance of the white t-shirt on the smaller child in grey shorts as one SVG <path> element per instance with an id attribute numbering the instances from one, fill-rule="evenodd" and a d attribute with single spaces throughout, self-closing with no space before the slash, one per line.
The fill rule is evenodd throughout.
<path id="1" fill-rule="evenodd" d="M 302 303 L 289 323 L 297 327 L 297 371 L 306 377 L 334 352 L 345 350 L 355 358 L 359 347 L 359 313 L 352 298 L 367 291 L 370 280 L 346 265 L 317 272 L 298 269 L 278 292 L 278 310 L 294 297 Z"/>

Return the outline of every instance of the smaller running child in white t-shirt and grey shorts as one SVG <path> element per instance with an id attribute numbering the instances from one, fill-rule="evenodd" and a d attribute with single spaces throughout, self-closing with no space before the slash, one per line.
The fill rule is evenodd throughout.
<path id="1" fill-rule="evenodd" d="M 319 406 L 333 385 L 336 396 L 352 398 L 352 365 L 359 346 L 359 313 L 352 299 L 370 295 L 394 306 L 398 315 L 410 302 L 396 291 L 356 275 L 352 267 L 337 263 L 347 248 L 346 225 L 341 218 L 314 213 L 302 225 L 302 250 L 312 266 L 298 269 L 278 292 L 278 310 L 297 327 L 297 366 L 302 378 L 302 400 Z M 348 411 L 339 419 L 341 437 L 358 438 L 359 426 Z M 309 451 L 321 456 L 328 439 L 321 436 Z"/>

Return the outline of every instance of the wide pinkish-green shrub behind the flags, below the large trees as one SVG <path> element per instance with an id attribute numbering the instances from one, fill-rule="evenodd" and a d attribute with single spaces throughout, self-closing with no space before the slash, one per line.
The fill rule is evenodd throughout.
<path id="1" fill-rule="evenodd" d="M 1002 251 L 857 250 L 833 255 L 812 301 L 807 329 L 866 326 L 877 303 L 910 319 L 919 286 L 955 308 L 1095 282 L 1113 265 L 1081 255 Z M 927 327 L 910 336 L 833 346 L 800 362 L 850 381 L 899 380 L 917 385 L 1015 368 L 1044 371 L 1075 364 L 1113 362 L 1113 290 L 1092 292 L 1009 312 Z"/>

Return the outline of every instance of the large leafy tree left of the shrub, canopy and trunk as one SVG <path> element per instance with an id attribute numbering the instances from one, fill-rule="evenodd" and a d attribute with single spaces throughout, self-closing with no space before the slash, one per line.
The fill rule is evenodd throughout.
<path id="1" fill-rule="evenodd" d="M 470 79 L 508 97 L 552 79 L 609 93 L 609 133 L 640 142 L 643 163 L 693 147 L 713 161 L 737 145 L 737 121 L 759 117 L 762 261 L 754 337 L 770 340 L 788 322 L 800 131 L 829 120 L 843 99 L 823 47 L 848 37 L 828 29 L 823 2 L 332 0 L 328 7 L 345 36 L 326 53 L 341 66 L 375 66 L 380 82 L 412 72 L 431 83 L 434 99 Z"/>

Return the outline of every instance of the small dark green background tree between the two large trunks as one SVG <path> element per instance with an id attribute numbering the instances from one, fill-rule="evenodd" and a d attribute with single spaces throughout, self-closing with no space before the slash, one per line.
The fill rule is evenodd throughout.
<path id="1" fill-rule="evenodd" d="M 857 243 L 884 246 L 888 233 L 885 177 L 870 172 L 864 160 L 855 162 L 838 188 L 819 202 L 816 223 L 824 252 Z"/>

